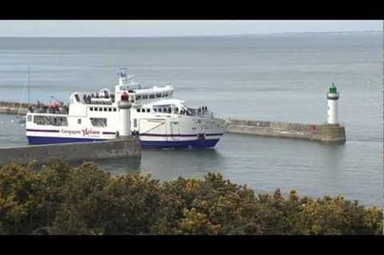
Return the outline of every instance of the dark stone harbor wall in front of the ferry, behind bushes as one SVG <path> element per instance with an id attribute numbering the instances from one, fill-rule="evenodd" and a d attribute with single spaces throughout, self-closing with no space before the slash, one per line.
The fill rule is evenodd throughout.
<path id="1" fill-rule="evenodd" d="M 2 148 L 0 166 L 14 162 L 27 164 L 32 160 L 48 164 L 56 159 L 74 162 L 125 157 L 141 157 L 141 145 L 137 138 Z"/>

